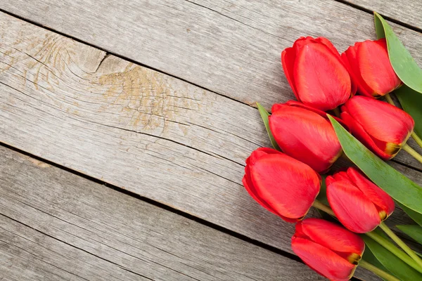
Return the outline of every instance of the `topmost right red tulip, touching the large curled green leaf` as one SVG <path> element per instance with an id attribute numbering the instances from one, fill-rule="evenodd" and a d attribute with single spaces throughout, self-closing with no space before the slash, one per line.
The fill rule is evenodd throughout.
<path id="1" fill-rule="evenodd" d="M 357 91 L 364 96 L 379 97 L 402 84 L 392 69 L 385 39 L 357 42 L 342 53 Z"/>

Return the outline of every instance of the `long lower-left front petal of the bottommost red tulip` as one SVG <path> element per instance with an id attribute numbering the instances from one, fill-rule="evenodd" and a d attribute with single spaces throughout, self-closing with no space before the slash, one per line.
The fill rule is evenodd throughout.
<path id="1" fill-rule="evenodd" d="M 300 237 L 292 238 L 292 249 L 307 266 L 330 280 L 347 281 L 356 268 L 330 249 Z"/>

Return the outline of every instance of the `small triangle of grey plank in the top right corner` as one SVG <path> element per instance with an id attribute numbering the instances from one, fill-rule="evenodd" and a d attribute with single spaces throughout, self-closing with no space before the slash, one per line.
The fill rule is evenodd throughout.
<path id="1" fill-rule="evenodd" d="M 394 20 L 404 22 L 411 27 L 422 29 L 422 3 L 418 0 L 347 0 L 350 4 L 357 5 L 370 11 L 376 11 Z"/>

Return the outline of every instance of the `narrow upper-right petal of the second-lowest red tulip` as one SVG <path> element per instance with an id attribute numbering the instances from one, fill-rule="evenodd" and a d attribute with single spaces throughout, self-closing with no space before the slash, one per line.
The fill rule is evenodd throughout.
<path id="1" fill-rule="evenodd" d="M 364 192 L 365 196 L 378 207 L 378 211 L 383 210 L 388 216 L 392 214 L 395 204 L 387 192 L 379 188 L 375 183 L 370 181 L 369 178 L 366 178 L 366 176 L 357 171 L 357 169 L 349 168 L 347 170 L 347 175 L 357 188 Z"/>

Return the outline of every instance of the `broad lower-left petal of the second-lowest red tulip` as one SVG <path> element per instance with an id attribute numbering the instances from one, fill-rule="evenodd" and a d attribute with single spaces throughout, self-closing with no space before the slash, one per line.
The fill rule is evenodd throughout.
<path id="1" fill-rule="evenodd" d="M 381 223 L 375 205 L 350 180 L 327 184 L 327 199 L 335 216 L 348 230 L 367 233 Z"/>

